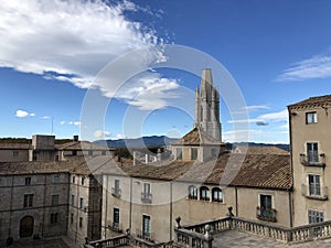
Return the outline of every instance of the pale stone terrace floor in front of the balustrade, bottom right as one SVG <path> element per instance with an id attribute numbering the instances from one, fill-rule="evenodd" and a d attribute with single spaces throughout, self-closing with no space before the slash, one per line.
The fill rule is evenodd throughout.
<path id="1" fill-rule="evenodd" d="M 236 230 L 224 231 L 214 236 L 213 248 L 330 248 L 331 239 L 287 245 L 271 239 L 260 238 L 250 234 Z"/>

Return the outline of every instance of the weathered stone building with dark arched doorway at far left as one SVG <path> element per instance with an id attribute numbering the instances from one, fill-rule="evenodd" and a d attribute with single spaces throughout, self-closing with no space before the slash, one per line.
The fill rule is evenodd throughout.
<path id="1" fill-rule="evenodd" d="M 67 163 L 1 164 L 0 244 L 66 235 Z"/>

